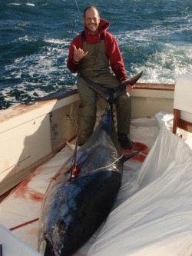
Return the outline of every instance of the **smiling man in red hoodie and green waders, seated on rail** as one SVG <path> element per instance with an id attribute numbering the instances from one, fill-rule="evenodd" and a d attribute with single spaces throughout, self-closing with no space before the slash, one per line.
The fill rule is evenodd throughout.
<path id="1" fill-rule="evenodd" d="M 97 97 L 88 87 L 81 74 L 90 80 L 114 88 L 127 81 L 127 74 L 118 44 L 111 33 L 107 32 L 109 22 L 101 19 L 98 9 L 90 6 L 84 10 L 84 31 L 76 36 L 70 45 L 68 69 L 78 72 L 78 93 L 81 104 L 78 110 L 78 145 L 83 145 L 94 131 L 96 121 Z M 112 69 L 112 71 L 111 71 Z M 133 88 L 127 85 L 126 91 Z M 129 138 L 131 121 L 131 98 L 128 93 L 119 96 L 114 102 L 117 110 L 118 141 L 121 148 L 131 149 Z"/>

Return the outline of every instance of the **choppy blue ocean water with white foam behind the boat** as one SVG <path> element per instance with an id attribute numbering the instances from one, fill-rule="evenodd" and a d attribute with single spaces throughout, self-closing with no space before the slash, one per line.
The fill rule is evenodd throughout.
<path id="1" fill-rule="evenodd" d="M 111 23 L 127 75 L 174 83 L 192 73 L 191 0 L 0 0 L 0 109 L 76 83 L 68 47 L 88 5 Z"/>

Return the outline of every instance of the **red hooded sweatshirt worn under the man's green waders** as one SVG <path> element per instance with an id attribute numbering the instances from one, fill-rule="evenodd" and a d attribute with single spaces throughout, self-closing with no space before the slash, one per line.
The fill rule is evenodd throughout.
<path id="1" fill-rule="evenodd" d="M 88 30 L 84 27 L 84 32 L 86 36 L 86 42 L 88 44 L 95 44 L 100 42 L 100 35 L 104 34 L 104 45 L 106 48 L 106 52 L 108 55 L 108 59 L 111 65 L 112 70 L 114 71 L 114 75 L 118 78 L 119 81 L 124 80 L 127 78 L 127 74 L 124 68 L 124 61 L 121 56 L 120 49 L 118 48 L 118 44 L 116 40 L 114 39 L 114 36 L 111 35 L 111 33 L 107 32 L 107 29 L 109 27 L 109 22 L 105 21 L 104 19 L 100 19 L 100 24 L 98 27 L 98 33 L 95 35 L 92 35 L 88 32 Z M 69 47 L 69 54 L 68 54 L 68 62 L 67 66 L 68 69 L 75 73 L 78 71 L 81 65 L 80 62 L 74 62 L 73 56 L 74 56 L 74 48 L 72 45 L 75 45 L 76 48 L 83 48 L 83 41 L 81 38 L 81 34 L 77 35 L 71 42 L 71 45 Z"/>

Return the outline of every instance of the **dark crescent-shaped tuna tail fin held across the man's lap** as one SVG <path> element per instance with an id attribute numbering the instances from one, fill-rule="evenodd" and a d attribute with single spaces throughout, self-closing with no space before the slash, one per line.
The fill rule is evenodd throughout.
<path id="1" fill-rule="evenodd" d="M 104 98 L 105 101 L 108 101 L 109 103 L 113 103 L 118 96 L 122 95 L 126 91 L 127 85 L 134 85 L 136 82 L 141 78 L 143 71 L 141 71 L 139 74 L 135 75 L 133 78 L 129 78 L 127 81 L 124 82 L 124 84 L 118 85 L 115 88 L 106 88 L 103 85 L 98 85 L 94 81 L 91 81 L 86 76 L 81 74 L 81 78 L 84 79 L 89 85 L 90 88 L 92 88 L 98 95 L 101 96 L 101 98 Z"/>

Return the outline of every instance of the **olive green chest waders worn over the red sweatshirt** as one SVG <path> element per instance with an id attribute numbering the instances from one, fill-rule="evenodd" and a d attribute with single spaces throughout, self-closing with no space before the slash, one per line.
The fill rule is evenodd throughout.
<path id="1" fill-rule="evenodd" d="M 81 68 L 78 71 L 78 93 L 81 104 L 78 109 L 79 145 L 83 145 L 94 131 L 97 111 L 97 98 L 95 92 L 80 77 L 81 73 L 92 81 L 113 88 L 120 85 L 118 79 L 111 72 L 108 56 L 104 45 L 104 35 L 101 42 L 87 44 L 85 36 L 82 35 L 83 50 L 88 51 L 81 60 Z M 117 110 L 118 131 L 129 134 L 131 120 L 131 98 L 124 93 L 114 102 Z"/>

